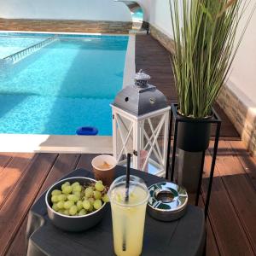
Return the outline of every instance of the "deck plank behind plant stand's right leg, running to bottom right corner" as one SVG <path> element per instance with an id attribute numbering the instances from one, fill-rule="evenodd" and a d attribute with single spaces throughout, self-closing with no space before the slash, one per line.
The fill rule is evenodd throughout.
<path id="1" fill-rule="evenodd" d="M 207 153 L 205 161 L 205 174 L 209 175 L 212 156 Z M 218 173 L 218 167 L 215 167 Z M 203 197 L 207 193 L 208 178 L 202 182 Z M 253 256 L 253 249 L 247 239 L 240 219 L 237 217 L 236 210 L 230 201 L 222 177 L 219 173 L 213 178 L 212 196 L 210 201 L 208 217 L 212 224 L 212 230 L 216 234 L 216 241 L 221 255 L 248 255 Z"/>

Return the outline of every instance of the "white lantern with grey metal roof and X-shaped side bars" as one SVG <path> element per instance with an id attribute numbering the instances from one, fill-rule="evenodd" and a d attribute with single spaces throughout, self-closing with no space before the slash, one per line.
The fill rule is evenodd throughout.
<path id="1" fill-rule="evenodd" d="M 140 71 L 135 84 L 126 86 L 115 97 L 113 113 L 113 156 L 126 165 L 132 154 L 135 169 L 163 176 L 166 170 L 170 107 L 166 96 L 154 85 L 150 76 Z"/>

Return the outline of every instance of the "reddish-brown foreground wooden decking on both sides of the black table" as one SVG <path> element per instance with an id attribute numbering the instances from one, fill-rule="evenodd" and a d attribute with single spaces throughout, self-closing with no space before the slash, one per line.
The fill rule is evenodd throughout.
<path id="1" fill-rule="evenodd" d="M 207 152 L 204 204 L 212 148 Z M 26 255 L 26 218 L 50 184 L 94 154 L 0 154 L 0 255 Z M 207 218 L 207 255 L 255 255 L 256 160 L 241 142 L 221 141 Z"/>

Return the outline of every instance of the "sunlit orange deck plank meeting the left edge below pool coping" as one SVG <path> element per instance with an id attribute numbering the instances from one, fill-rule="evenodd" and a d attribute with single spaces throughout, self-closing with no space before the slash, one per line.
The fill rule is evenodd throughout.
<path id="1" fill-rule="evenodd" d="M 20 178 L 26 173 L 26 167 L 31 163 L 34 154 L 16 154 L 7 166 L 0 172 L 0 209 L 10 193 L 20 183 Z"/>

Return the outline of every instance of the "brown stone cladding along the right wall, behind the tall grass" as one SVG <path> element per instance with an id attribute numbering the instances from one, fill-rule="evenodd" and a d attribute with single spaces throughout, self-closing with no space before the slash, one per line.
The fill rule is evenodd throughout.
<path id="1" fill-rule="evenodd" d="M 151 24 L 149 26 L 152 37 L 172 54 L 175 53 L 172 38 L 161 32 L 159 28 Z M 223 85 L 217 102 L 236 127 L 236 131 L 241 136 L 241 141 L 245 143 L 249 152 L 256 156 L 256 113 L 253 108 L 249 107 L 250 102 L 241 99 L 241 94 L 236 94 L 227 84 Z"/>

